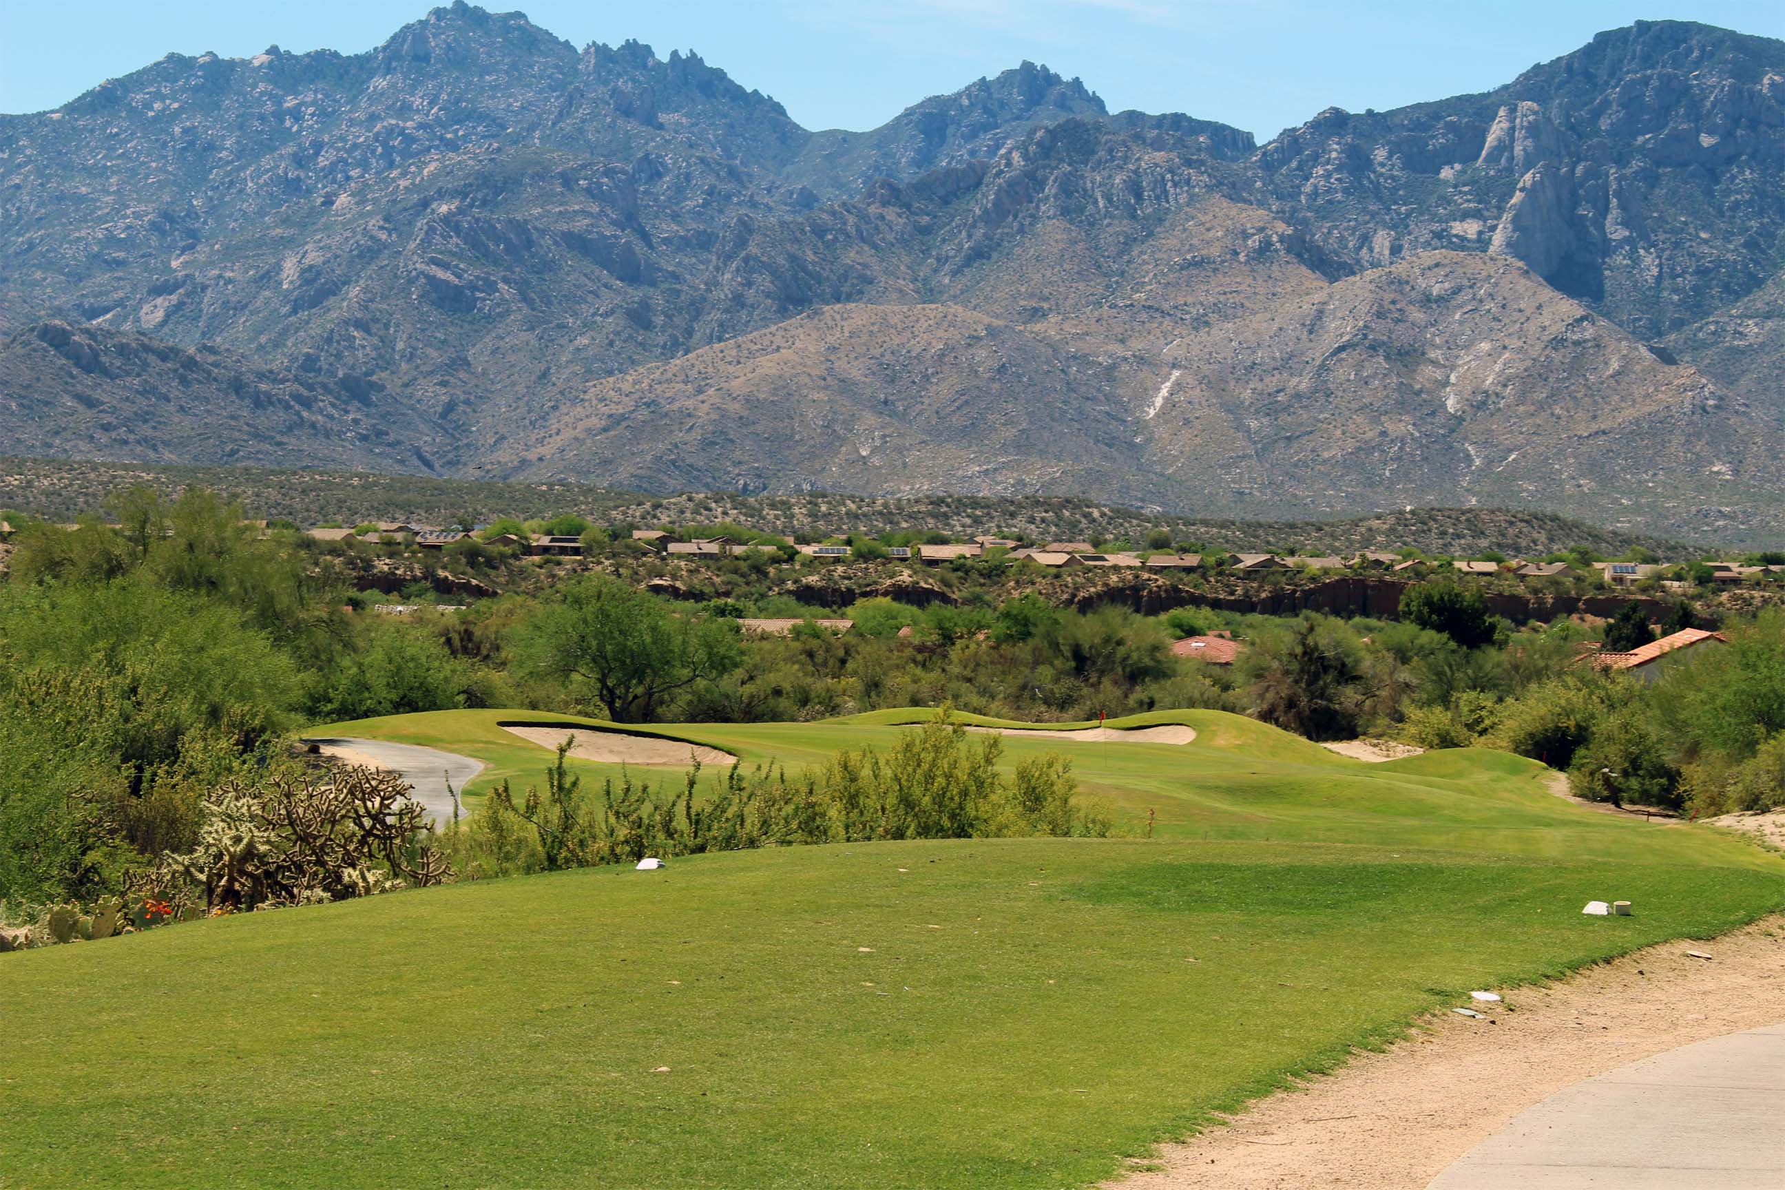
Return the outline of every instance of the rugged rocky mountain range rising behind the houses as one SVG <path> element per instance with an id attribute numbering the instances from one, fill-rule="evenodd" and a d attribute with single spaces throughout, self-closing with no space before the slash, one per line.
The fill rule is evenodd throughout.
<path id="1" fill-rule="evenodd" d="M 1771 532 L 1781 180 L 1785 43 L 1683 21 L 1255 146 L 455 4 L 0 116 L 0 450 Z"/>

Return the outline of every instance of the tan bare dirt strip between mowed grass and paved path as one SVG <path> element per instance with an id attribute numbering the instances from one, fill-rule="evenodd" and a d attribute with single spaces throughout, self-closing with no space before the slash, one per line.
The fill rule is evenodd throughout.
<path id="1" fill-rule="evenodd" d="M 1119 1190 L 1424 1190 L 1508 1120 L 1580 1079 L 1785 1021 L 1785 917 L 1664 942 L 1542 988 L 1419 1022 L 1387 1053 L 1166 1145 Z M 1689 949 L 1712 958 L 1690 958 Z"/>

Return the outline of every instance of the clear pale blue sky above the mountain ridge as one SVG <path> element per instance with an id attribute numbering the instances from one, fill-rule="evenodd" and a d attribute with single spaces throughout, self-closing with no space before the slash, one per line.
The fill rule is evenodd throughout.
<path id="1" fill-rule="evenodd" d="M 0 0 L 0 111 L 41 111 L 170 50 L 368 50 L 427 0 Z M 1781 0 L 519 0 L 578 46 L 698 50 L 810 128 L 866 128 L 1021 59 L 1110 109 L 1183 111 L 1264 141 L 1328 105 L 1396 107 L 1498 86 L 1633 20 L 1785 37 Z"/>

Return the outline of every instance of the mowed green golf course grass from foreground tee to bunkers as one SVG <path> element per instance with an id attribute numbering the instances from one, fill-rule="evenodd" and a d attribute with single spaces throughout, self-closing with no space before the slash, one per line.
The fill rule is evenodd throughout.
<path id="1" fill-rule="evenodd" d="M 327 733 L 482 755 L 509 717 L 546 719 Z M 796 767 L 900 717 L 668 731 Z M 1785 862 L 1515 756 L 1148 719 L 1200 739 L 1057 748 L 1155 839 L 696 856 L 7 956 L 0 1186 L 1067 1186 L 1471 988 L 1785 899 Z"/>

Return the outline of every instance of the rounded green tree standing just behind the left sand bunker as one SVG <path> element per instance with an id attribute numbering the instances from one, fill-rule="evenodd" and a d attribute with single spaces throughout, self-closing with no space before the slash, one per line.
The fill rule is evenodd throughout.
<path id="1" fill-rule="evenodd" d="M 662 701 L 737 667 L 737 623 L 684 617 L 607 574 L 566 583 L 521 623 L 523 669 L 569 682 L 616 723 L 644 723 Z"/>

